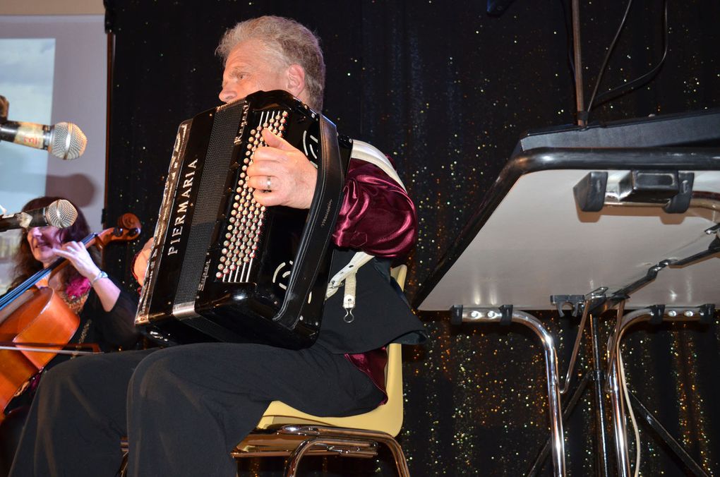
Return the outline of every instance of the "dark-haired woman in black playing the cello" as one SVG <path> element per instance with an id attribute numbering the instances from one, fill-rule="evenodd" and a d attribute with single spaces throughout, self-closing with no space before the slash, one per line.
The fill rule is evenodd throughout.
<path id="1" fill-rule="evenodd" d="M 48 196 L 33 199 L 22 210 L 39 209 L 58 199 Z M 49 286 L 78 315 L 80 322 L 69 342 L 96 343 L 103 351 L 133 347 L 138 338 L 134 326 L 138 300 L 121 291 L 107 273 L 98 267 L 96 261 L 99 261 L 99 253 L 96 250 L 91 249 L 89 253 L 84 245 L 78 243 L 86 235 L 89 235 L 89 227 L 79 209 L 78 217 L 71 227 L 58 229 L 45 226 L 23 230 L 15 257 L 12 288 L 33 273 L 48 268 L 58 258 L 65 258 L 72 266 L 58 268 L 50 274 L 46 283 L 39 282 L 37 286 Z M 45 365 L 45 369 L 67 359 L 71 359 L 71 356 L 56 355 Z M 0 476 L 5 476 L 9 471 L 39 378 L 40 374 L 32 377 L 29 385 L 6 406 L 6 417 L 0 424 Z"/>

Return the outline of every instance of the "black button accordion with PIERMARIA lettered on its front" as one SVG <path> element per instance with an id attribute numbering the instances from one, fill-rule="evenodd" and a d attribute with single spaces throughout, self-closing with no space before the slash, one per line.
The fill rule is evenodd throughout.
<path id="1" fill-rule="evenodd" d="M 264 128 L 318 166 L 309 210 L 253 199 L 245 171 Z M 285 91 L 181 123 L 135 318 L 140 330 L 168 345 L 312 345 L 350 148 L 334 124 Z"/>

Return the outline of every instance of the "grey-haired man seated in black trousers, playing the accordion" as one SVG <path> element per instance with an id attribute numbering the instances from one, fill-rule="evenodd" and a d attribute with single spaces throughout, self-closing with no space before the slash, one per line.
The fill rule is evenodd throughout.
<path id="1" fill-rule="evenodd" d="M 313 109 L 322 106 L 323 55 L 301 24 L 279 17 L 241 22 L 217 52 L 225 59 L 221 101 L 283 89 Z M 317 171 L 281 138 L 264 131 L 264 139 L 267 147 L 248 169 L 257 201 L 309 207 Z M 351 160 L 344 193 L 333 266 L 348 263 L 355 250 L 376 256 L 357 273 L 352 322 L 343 320 L 336 294 L 325 304 L 317 342 L 304 350 L 201 343 L 60 365 L 40 383 L 12 475 L 112 476 L 127 435 L 131 476 L 234 476 L 229 451 L 271 401 L 320 415 L 359 414 L 380 404 L 382 347 L 423 340 L 422 324 L 388 274 L 390 258 L 413 245 L 415 209 L 395 181 L 359 160 Z"/>

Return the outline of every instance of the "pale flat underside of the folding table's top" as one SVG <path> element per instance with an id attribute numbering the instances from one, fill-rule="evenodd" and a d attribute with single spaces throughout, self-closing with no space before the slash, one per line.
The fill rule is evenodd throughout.
<path id="1" fill-rule="evenodd" d="M 696 194 L 720 198 L 719 149 L 530 150 L 503 169 L 415 305 L 554 309 L 552 295 L 587 295 L 606 287 L 609 296 L 662 260 L 707 250 L 716 235 L 706 230 L 720 222 L 718 209 L 693 202 L 683 214 L 647 204 L 580 210 L 573 187 L 588 173 L 607 172 L 611 195 L 612 184 L 634 170 L 690 171 Z M 630 295 L 626 308 L 708 303 L 720 303 L 718 255 L 662 269 Z"/>

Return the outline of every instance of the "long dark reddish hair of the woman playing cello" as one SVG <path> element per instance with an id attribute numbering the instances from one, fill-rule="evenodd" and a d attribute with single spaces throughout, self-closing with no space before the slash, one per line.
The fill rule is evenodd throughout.
<path id="1" fill-rule="evenodd" d="M 27 210 L 32 209 L 42 209 L 42 207 L 47 207 L 48 205 L 52 204 L 54 201 L 64 199 L 63 197 L 50 197 L 50 196 L 42 196 L 38 197 L 37 199 L 32 199 L 30 202 L 25 204 L 22 207 L 22 211 L 25 212 Z M 67 200 L 67 199 L 66 199 Z M 72 201 L 71 201 L 72 204 Z M 75 204 L 73 204 L 75 206 Z M 85 237 L 87 237 L 90 234 L 90 227 L 88 226 L 88 222 L 85 219 L 85 216 L 83 215 L 83 212 L 78 209 L 77 206 L 75 208 L 78 211 L 78 218 L 75 219 L 75 223 L 72 224 L 70 227 L 66 227 L 62 230 L 60 230 L 60 242 L 71 242 L 72 240 L 80 241 L 83 240 Z M 96 256 L 97 253 L 91 253 L 91 257 L 95 262 L 98 261 L 98 257 Z M 20 246 L 18 247 L 17 253 L 15 254 L 14 258 L 15 262 L 15 268 L 14 268 L 14 280 L 12 281 L 11 287 L 14 288 L 15 286 L 18 286 L 20 283 L 25 281 L 26 278 L 30 277 L 33 273 L 40 271 L 42 269 L 42 263 L 35 260 L 35 257 L 32 256 L 32 251 L 30 250 L 30 243 L 27 242 L 27 229 L 22 230 L 22 237 L 20 240 Z M 68 283 L 72 278 L 79 276 L 80 274 L 73 268 L 72 266 L 66 267 L 63 269 L 63 276 L 62 281 L 63 283 Z"/>

